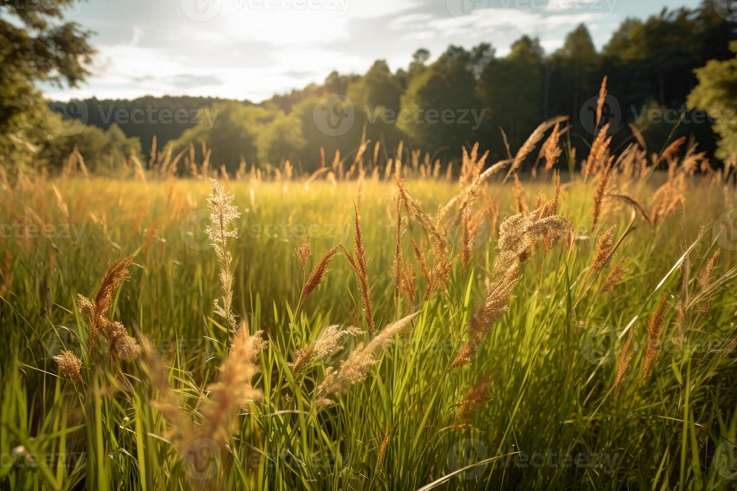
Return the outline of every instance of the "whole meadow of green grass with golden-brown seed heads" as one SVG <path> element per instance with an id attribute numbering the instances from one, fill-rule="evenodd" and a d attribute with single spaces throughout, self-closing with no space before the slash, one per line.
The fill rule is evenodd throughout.
<path id="1" fill-rule="evenodd" d="M 660 158 L 221 179 L 229 225 L 205 179 L 6 183 L 0 485 L 729 489 L 734 188 Z"/>

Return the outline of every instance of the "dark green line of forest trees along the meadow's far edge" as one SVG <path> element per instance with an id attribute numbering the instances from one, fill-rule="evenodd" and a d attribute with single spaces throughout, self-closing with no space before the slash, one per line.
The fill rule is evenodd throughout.
<path id="1" fill-rule="evenodd" d="M 405 149 L 422 149 L 441 160 L 456 158 L 461 146 L 478 141 L 492 157 L 504 158 L 540 121 L 556 115 L 570 116 L 570 145 L 586 145 L 595 130 L 587 105 L 608 75 L 604 122 L 610 123 L 615 146 L 631 137 L 631 123 L 652 151 L 668 138 L 686 135 L 699 141 L 700 150 L 727 158 L 737 149 L 733 116 L 728 116 L 729 107 L 737 105 L 737 82 L 730 80 L 736 25 L 728 15 L 720 15 L 715 2 L 704 0 L 694 9 L 627 18 L 601 50 L 581 24 L 551 53 L 529 36 L 516 40 L 506 56 L 498 56 L 489 43 L 471 49 L 449 46 L 434 60 L 419 49 L 407 67 L 396 71 L 377 60 L 365 74 L 333 71 L 322 84 L 259 104 L 178 96 L 52 103 L 57 113 L 52 116 L 43 107 L 35 113 L 19 111 L 21 122 L 32 129 L 20 139 L 35 146 L 33 158 L 40 165 L 60 165 L 63 153 L 77 146 L 88 166 L 99 169 L 114 169 L 119 158 L 131 152 L 140 155 L 155 135 L 159 151 L 185 152 L 189 158 L 186 150 L 192 143 L 195 159 L 224 164 L 228 171 L 243 161 L 279 166 L 290 160 L 311 172 L 321 165 L 321 155 L 336 150 L 350 155 L 366 140 L 381 142 L 385 156 L 403 141 Z M 93 54 L 84 33 L 77 35 L 80 43 L 73 49 Z M 84 76 L 83 67 L 80 70 L 62 73 L 74 83 Z M 16 85 L 21 87 L 21 82 Z M 0 82 L 0 105 L 20 90 L 6 93 L 6 85 L 13 82 Z M 49 126 L 49 119 L 69 124 L 63 118 L 75 116 L 80 107 L 79 116 L 87 123 L 80 133 L 37 134 Z M 721 116 L 713 115 L 715 108 Z M 706 116 L 699 119 L 694 111 Z M 18 119 L 11 115 L 9 122 L 6 112 L 0 112 L 5 155 L 8 146 L 19 146 L 17 131 L 10 145 L 6 136 L 15 129 L 13 117 Z"/>

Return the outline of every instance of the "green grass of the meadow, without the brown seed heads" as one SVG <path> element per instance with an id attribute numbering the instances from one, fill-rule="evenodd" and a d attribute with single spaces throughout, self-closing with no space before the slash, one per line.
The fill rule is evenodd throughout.
<path id="1" fill-rule="evenodd" d="M 720 449 L 733 450 L 730 441 L 737 437 L 736 252 L 722 250 L 706 313 L 701 310 L 705 292 L 694 280 L 716 247 L 712 233 L 719 227 L 708 227 L 732 205 L 698 181 L 690 184 L 686 216 L 679 211 L 655 230 L 638 218 L 612 264 L 592 278 L 593 286 L 575 307 L 573 295 L 595 254 L 588 227 L 593 193 L 580 180 L 565 186 L 559 214 L 570 213 L 577 240 L 570 247 L 541 246 L 531 252 L 509 311 L 479 347 L 472 367 L 448 372 L 467 339 L 466 323 L 486 292 L 483 277 L 497 257 L 497 235 L 491 225 L 484 228 L 472 267 L 461 272 L 456 261 L 447 288 L 429 300 L 395 300 L 394 241 L 387 239 L 396 218 L 392 186 L 366 180 L 359 206 L 366 254 L 373 260 L 368 274 L 377 327 L 412 311 L 422 314 L 410 332 L 394 339 L 366 381 L 335 395 L 335 404 L 326 407 L 318 407 L 313 395 L 324 370 L 367 336 L 346 339 L 337 356 L 312 360 L 296 374 L 290 369 L 295 352 L 312 345 L 327 326 L 360 325 L 362 316 L 356 280 L 342 256 L 332 261 L 304 308 L 295 309 L 304 278 L 294 254 L 304 239 L 297 225 L 318 226 L 319 233 L 311 236 L 309 273 L 329 247 L 352 241 L 350 202 L 357 185 L 318 181 L 306 191 L 302 183 L 286 183 L 287 188 L 284 183 L 254 188 L 227 183 L 243 213 L 236 226 L 240 236 L 231 241 L 234 311 L 251 332 L 265 329 L 269 346 L 254 381 L 264 398 L 237 417 L 228 448 L 221 449 L 219 482 L 198 480 L 198 474 L 193 478 L 188 455 L 178 454 L 167 441 L 171 425 L 153 403 L 142 360 L 111 364 L 108 356 L 100 356 L 94 366 L 88 363 L 88 329 L 74 308 L 74 294 L 94 295 L 108 261 L 136 252 L 137 266 L 109 317 L 150 341 L 162 361 L 161 375 L 181 397 L 181 414 L 198 420 L 198 409 L 206 403 L 203 389 L 220 374 L 229 336 L 212 312 L 212 301 L 221 294 L 214 253 L 192 242 L 207 243 L 200 237 L 205 224 L 192 223 L 190 213 L 203 208 L 209 186 L 186 180 L 147 186 L 56 180 L 18 189 L 18 199 L 0 208 L 9 213 L 2 222 L 12 222 L 10 212 L 22 216 L 24 207 L 45 211 L 51 224 L 69 221 L 60 207 L 48 205 L 55 199 L 50 184 L 60 190 L 71 216 L 82 217 L 73 224 L 76 230 L 83 228 L 79 236 L 4 241 L 4 489 L 416 490 L 484 457 L 520 451 L 521 459 L 472 467 L 437 489 L 733 487 L 731 469 L 725 467 L 732 456 Z M 457 183 L 411 181 L 407 186 L 427 210 L 458 191 Z M 538 190 L 553 193 L 549 183 L 525 183 L 525 188 L 528 201 Z M 509 186 L 490 183 L 486 191 L 500 206 L 500 216 L 514 213 Z M 643 199 L 653 187 L 643 183 L 631 191 Z M 93 222 L 88 216 L 105 219 Z M 602 230 L 617 225 L 621 233 L 629 216 L 629 209 L 613 208 Z M 279 225 L 270 234 L 251 227 L 282 223 L 287 228 Z M 702 226 L 706 235 L 696 241 Z M 427 239 L 415 219 L 403 227 L 405 258 L 419 276 L 407 236 L 422 250 Z M 682 244 L 694 242 L 691 281 L 682 282 L 677 267 Z M 614 292 L 601 292 L 608 268 L 620 260 L 631 272 Z M 423 280 L 417 281 L 421 295 Z M 676 297 L 682 288 L 691 306 L 679 344 Z M 674 297 L 668 296 L 660 352 L 649 378 L 641 381 L 647 317 L 661 292 Z M 615 397 L 615 359 L 628 325 L 637 348 Z M 85 380 L 94 384 L 77 386 L 58 373 L 52 356 L 62 347 L 83 358 Z M 468 387 L 489 372 L 491 392 L 480 401 L 471 425 L 454 427 Z M 566 454 L 588 460 L 559 460 Z"/>

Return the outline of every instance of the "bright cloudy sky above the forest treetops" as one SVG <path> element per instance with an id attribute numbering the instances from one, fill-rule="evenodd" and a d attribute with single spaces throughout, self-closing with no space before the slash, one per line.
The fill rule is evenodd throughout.
<path id="1" fill-rule="evenodd" d="M 412 53 L 521 35 L 551 52 L 583 22 L 601 48 L 628 16 L 698 0 L 75 0 L 66 17 L 95 32 L 99 53 L 80 88 L 43 87 L 52 99 L 151 94 L 259 102 L 330 71 L 392 69 Z"/>

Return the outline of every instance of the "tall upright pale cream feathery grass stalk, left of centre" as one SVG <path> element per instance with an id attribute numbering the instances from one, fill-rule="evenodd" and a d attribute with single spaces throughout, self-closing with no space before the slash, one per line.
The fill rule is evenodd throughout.
<path id="1" fill-rule="evenodd" d="M 233 256 L 228 252 L 228 239 L 236 237 L 238 232 L 237 230 L 228 230 L 228 227 L 235 219 L 240 217 L 240 213 L 238 208 L 231 204 L 234 195 L 227 193 L 217 180 L 211 179 L 211 182 L 212 193 L 207 198 L 207 205 L 210 208 L 212 225 L 205 228 L 205 233 L 212 241 L 212 248 L 220 264 L 218 277 L 220 278 L 220 289 L 223 291 L 220 299 L 215 299 L 213 302 L 214 311 L 217 315 L 226 319 L 228 328 L 231 332 L 235 332 L 238 331 L 238 319 L 232 310 L 233 273 L 231 272 L 231 263 L 233 262 Z M 220 300 L 223 302 L 222 305 Z"/>

